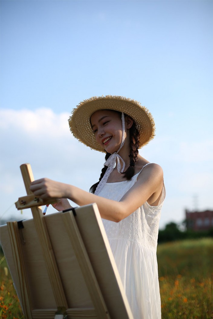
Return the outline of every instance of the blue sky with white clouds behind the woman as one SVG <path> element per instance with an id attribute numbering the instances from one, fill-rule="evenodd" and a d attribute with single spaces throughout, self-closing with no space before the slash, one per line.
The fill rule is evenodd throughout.
<path id="1" fill-rule="evenodd" d="M 80 101 L 106 94 L 154 116 L 156 137 L 140 154 L 164 170 L 161 227 L 182 221 L 185 208 L 212 208 L 212 1 L 0 5 L 2 218 L 23 218 L 13 205 L 25 195 L 23 163 L 36 179 L 86 190 L 98 180 L 103 154 L 79 144 L 67 119 Z"/>

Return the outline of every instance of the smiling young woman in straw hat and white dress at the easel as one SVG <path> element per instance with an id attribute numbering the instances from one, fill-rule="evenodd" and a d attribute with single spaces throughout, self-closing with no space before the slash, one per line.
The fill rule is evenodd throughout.
<path id="1" fill-rule="evenodd" d="M 106 153 L 99 182 L 90 192 L 49 179 L 32 182 L 36 197 L 61 198 L 58 210 L 97 203 L 134 319 L 161 318 L 156 259 L 157 237 L 165 198 L 159 165 L 138 149 L 155 133 L 152 115 L 139 102 L 120 96 L 81 102 L 69 119 L 73 135 Z"/>

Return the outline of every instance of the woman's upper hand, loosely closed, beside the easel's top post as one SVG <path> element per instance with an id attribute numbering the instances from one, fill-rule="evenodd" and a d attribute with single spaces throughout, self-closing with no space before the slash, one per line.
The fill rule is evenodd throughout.
<path id="1" fill-rule="evenodd" d="M 42 178 L 31 183 L 30 190 L 33 194 L 42 199 L 66 198 L 66 184 Z"/>

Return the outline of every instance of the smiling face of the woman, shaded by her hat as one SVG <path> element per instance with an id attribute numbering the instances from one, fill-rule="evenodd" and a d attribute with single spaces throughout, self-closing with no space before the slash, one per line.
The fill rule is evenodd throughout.
<path id="1" fill-rule="evenodd" d="M 121 113 L 99 110 L 90 118 L 96 141 L 108 153 L 117 152 L 122 139 Z"/>

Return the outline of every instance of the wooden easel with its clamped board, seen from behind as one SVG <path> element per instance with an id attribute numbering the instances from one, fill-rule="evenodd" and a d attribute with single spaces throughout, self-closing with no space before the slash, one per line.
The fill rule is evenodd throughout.
<path id="1" fill-rule="evenodd" d="M 31 166 L 20 168 L 27 196 L 16 206 L 33 219 L 1 226 L 1 245 L 25 319 L 133 319 L 97 205 L 44 216 L 49 202 L 34 198 Z"/>

